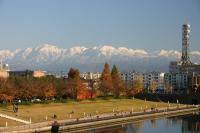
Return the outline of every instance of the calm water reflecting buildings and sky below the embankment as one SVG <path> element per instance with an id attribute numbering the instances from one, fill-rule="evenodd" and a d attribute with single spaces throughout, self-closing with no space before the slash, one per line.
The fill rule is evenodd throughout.
<path id="1" fill-rule="evenodd" d="M 200 133 L 200 113 L 146 120 L 79 133 Z"/>

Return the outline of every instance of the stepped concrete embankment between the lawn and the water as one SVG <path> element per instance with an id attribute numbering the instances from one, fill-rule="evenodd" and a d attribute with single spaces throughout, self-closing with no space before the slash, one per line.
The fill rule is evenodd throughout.
<path id="1" fill-rule="evenodd" d="M 191 114 L 193 112 L 199 112 L 200 106 L 177 106 L 168 108 L 159 108 L 151 110 L 143 110 L 141 112 L 122 112 L 112 113 L 107 115 L 93 116 L 90 118 L 81 118 L 73 120 L 58 121 L 59 130 L 64 132 L 78 132 L 88 129 L 110 127 L 115 125 L 121 125 L 125 123 L 132 123 L 136 121 L 142 121 L 146 119 L 155 119 L 159 117 L 171 117 L 185 114 Z M 51 130 L 51 123 L 47 122 L 41 126 L 41 123 L 30 124 L 27 128 L 19 129 L 5 129 L 0 130 L 3 132 L 49 132 Z M 34 126 L 33 126 L 34 125 Z M 37 127 L 38 125 L 38 127 Z"/>

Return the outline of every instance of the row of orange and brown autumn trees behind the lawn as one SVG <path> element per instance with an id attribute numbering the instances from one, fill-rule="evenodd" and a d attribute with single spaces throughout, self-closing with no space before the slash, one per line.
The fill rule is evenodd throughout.
<path id="1" fill-rule="evenodd" d="M 112 95 L 118 98 L 120 95 L 130 94 L 132 91 L 125 89 L 117 66 L 113 65 L 110 70 L 108 63 L 104 65 L 96 90 L 89 90 L 88 86 L 93 88 L 93 84 L 89 83 L 87 86 L 85 83 L 89 82 L 81 79 L 79 70 L 74 68 L 69 70 L 68 78 L 10 76 L 8 79 L 0 79 L 0 101 L 11 102 L 13 99 L 30 101 L 33 98 L 77 99 L 78 95 L 85 91 L 100 96 Z M 140 85 L 135 83 L 135 88 L 140 88 Z"/>

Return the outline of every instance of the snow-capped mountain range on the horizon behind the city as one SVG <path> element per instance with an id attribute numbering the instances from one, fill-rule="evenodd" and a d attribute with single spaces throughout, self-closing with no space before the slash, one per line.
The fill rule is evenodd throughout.
<path id="1" fill-rule="evenodd" d="M 103 64 L 108 62 L 118 65 L 121 71 L 168 71 L 169 62 L 178 61 L 180 57 L 181 52 L 176 50 L 148 52 L 111 45 L 63 49 L 42 44 L 35 48 L 0 50 L 0 59 L 8 63 L 11 70 L 67 71 L 77 67 L 81 71 L 102 71 Z M 200 51 L 191 51 L 190 57 L 200 63 Z"/>

